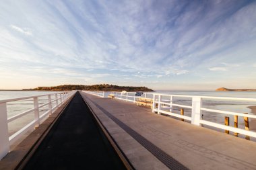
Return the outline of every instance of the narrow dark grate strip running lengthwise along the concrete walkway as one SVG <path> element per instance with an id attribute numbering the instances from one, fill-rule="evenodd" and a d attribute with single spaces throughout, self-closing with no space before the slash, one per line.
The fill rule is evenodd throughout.
<path id="1" fill-rule="evenodd" d="M 86 97 L 88 99 L 88 97 Z M 91 99 L 89 99 L 92 101 Z M 94 103 L 92 101 L 92 103 Z M 152 142 L 138 134 L 135 130 L 121 122 L 119 119 L 115 118 L 112 114 L 110 114 L 108 111 L 104 110 L 104 108 L 100 107 L 97 103 L 94 103 L 97 108 L 99 108 L 108 118 L 113 120 L 116 124 L 118 124 L 125 132 L 127 132 L 130 136 L 132 136 L 139 144 L 141 144 L 143 147 L 145 147 L 150 153 L 152 153 L 157 159 L 159 159 L 166 167 L 169 169 L 187 169 L 184 165 L 179 163 L 179 161 L 175 160 L 174 158 L 170 157 L 167 153 L 162 151 L 158 146 L 154 145 Z"/>

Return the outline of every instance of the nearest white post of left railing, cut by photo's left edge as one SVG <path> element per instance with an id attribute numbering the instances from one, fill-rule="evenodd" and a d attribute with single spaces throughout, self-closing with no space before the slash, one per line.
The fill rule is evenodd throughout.
<path id="1" fill-rule="evenodd" d="M 9 153 L 9 134 L 6 103 L 0 103 L 0 160 Z"/>

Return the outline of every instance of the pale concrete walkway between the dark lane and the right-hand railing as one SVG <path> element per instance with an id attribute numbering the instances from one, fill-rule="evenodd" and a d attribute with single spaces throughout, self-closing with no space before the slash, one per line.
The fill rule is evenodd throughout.
<path id="1" fill-rule="evenodd" d="M 135 169 L 256 169 L 256 142 L 159 116 L 130 102 L 82 96 Z"/>

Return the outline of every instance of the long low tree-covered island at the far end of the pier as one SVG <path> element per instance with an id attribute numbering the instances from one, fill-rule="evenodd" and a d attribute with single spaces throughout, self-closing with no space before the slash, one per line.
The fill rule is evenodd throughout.
<path id="1" fill-rule="evenodd" d="M 154 91 L 147 87 L 132 87 L 119 85 L 58 85 L 52 87 L 37 87 L 34 89 L 23 89 L 31 91 L 71 91 L 71 90 L 91 90 L 91 91 Z"/>

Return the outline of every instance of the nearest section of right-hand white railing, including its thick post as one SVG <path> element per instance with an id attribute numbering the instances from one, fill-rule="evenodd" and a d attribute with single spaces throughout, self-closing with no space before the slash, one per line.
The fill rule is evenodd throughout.
<path id="1" fill-rule="evenodd" d="M 179 98 L 178 100 L 174 100 L 174 97 Z M 175 101 L 186 100 L 187 104 L 178 104 Z M 240 117 L 247 117 L 247 118 L 256 118 L 256 115 L 251 114 L 242 114 L 238 112 L 231 112 L 231 111 L 223 111 L 223 110 L 215 110 L 210 108 L 203 107 L 203 101 L 205 100 L 214 100 L 218 101 L 247 101 L 253 102 L 256 105 L 256 99 L 253 98 L 239 98 L 239 97 L 209 97 L 209 96 L 194 96 L 194 95 L 166 95 L 166 94 L 158 94 L 154 93 L 153 95 L 153 109 L 152 112 L 157 112 L 158 114 L 167 114 L 170 116 L 174 116 L 176 118 L 182 118 L 184 120 L 191 121 L 191 124 L 195 124 L 197 126 L 201 126 L 201 124 L 205 124 L 207 126 L 212 126 L 214 128 L 219 128 L 222 130 L 230 130 L 231 132 L 244 134 L 247 136 L 252 136 L 256 138 L 256 132 L 245 130 L 242 128 L 234 128 L 231 126 L 225 126 L 224 124 L 219 124 L 216 122 L 211 122 L 209 120 L 202 119 L 202 112 L 214 112 L 218 114 L 222 114 L 224 116 L 231 115 L 231 116 L 240 116 Z M 156 108 L 156 103 L 158 107 Z M 191 110 L 191 116 L 184 116 L 181 114 L 177 114 L 172 112 L 173 106 L 178 108 L 187 108 Z M 166 110 L 167 109 L 167 110 Z"/>

